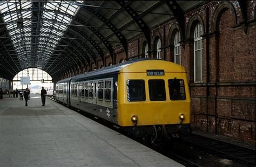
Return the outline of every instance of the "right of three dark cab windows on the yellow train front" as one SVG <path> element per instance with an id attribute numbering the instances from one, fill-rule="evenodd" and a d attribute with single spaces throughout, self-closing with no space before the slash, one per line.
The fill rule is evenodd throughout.
<path id="1" fill-rule="evenodd" d="M 168 80 L 171 100 L 186 100 L 185 85 L 183 79 Z"/>

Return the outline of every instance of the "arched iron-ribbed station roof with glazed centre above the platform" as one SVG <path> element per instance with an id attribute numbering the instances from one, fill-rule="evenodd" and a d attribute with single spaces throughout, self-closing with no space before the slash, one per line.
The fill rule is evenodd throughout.
<path id="1" fill-rule="evenodd" d="M 177 19 L 185 33 L 184 13 L 206 1 L 1 1 L 0 77 L 12 80 L 26 68 L 58 79 L 82 69 L 144 34 Z"/>

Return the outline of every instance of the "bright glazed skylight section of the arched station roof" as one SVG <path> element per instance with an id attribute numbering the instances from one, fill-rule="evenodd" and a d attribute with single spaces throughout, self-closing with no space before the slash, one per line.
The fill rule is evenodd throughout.
<path id="1" fill-rule="evenodd" d="M 32 8 L 35 6 L 33 3 L 41 3 L 43 8 L 42 13 L 40 12 L 41 16 L 37 20 L 32 18 Z M 77 3 L 82 3 L 82 1 Z M 68 24 L 71 23 L 73 16 L 76 15 L 78 10 L 79 6 L 69 1 L 0 2 L 0 13 L 4 14 L 4 22 L 8 23 L 6 29 L 9 32 L 16 53 L 19 54 L 19 61 L 24 63 L 26 62 L 24 55 L 30 54 L 31 57 L 41 57 L 42 60 L 42 52 L 45 53 L 43 55 L 46 57 L 46 61 L 48 61 L 50 54 L 54 52 L 56 45 L 61 39 L 56 37 L 63 36 Z M 33 15 L 35 14 L 33 13 Z M 17 22 L 21 22 L 21 24 Z M 39 22 L 40 24 L 33 22 Z M 32 38 L 37 40 L 32 40 Z M 35 45 L 38 46 L 34 47 Z M 38 50 L 31 52 L 31 48 L 32 50 L 38 48 Z M 26 64 L 22 64 L 22 66 L 24 68 Z"/>

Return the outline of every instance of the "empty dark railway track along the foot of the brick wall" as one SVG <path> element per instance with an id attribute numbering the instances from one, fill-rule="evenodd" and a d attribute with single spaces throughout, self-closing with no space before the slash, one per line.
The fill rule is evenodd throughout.
<path id="1" fill-rule="evenodd" d="M 183 141 L 196 145 L 197 147 L 210 150 L 218 155 L 231 158 L 234 161 L 248 166 L 256 165 L 255 150 L 250 148 L 241 147 L 196 134 L 183 137 Z"/>

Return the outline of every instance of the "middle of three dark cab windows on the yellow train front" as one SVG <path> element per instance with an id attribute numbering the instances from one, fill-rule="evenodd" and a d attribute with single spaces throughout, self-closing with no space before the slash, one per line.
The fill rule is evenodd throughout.
<path id="1" fill-rule="evenodd" d="M 151 101 L 165 101 L 166 94 L 164 80 L 149 80 L 149 93 Z"/>

